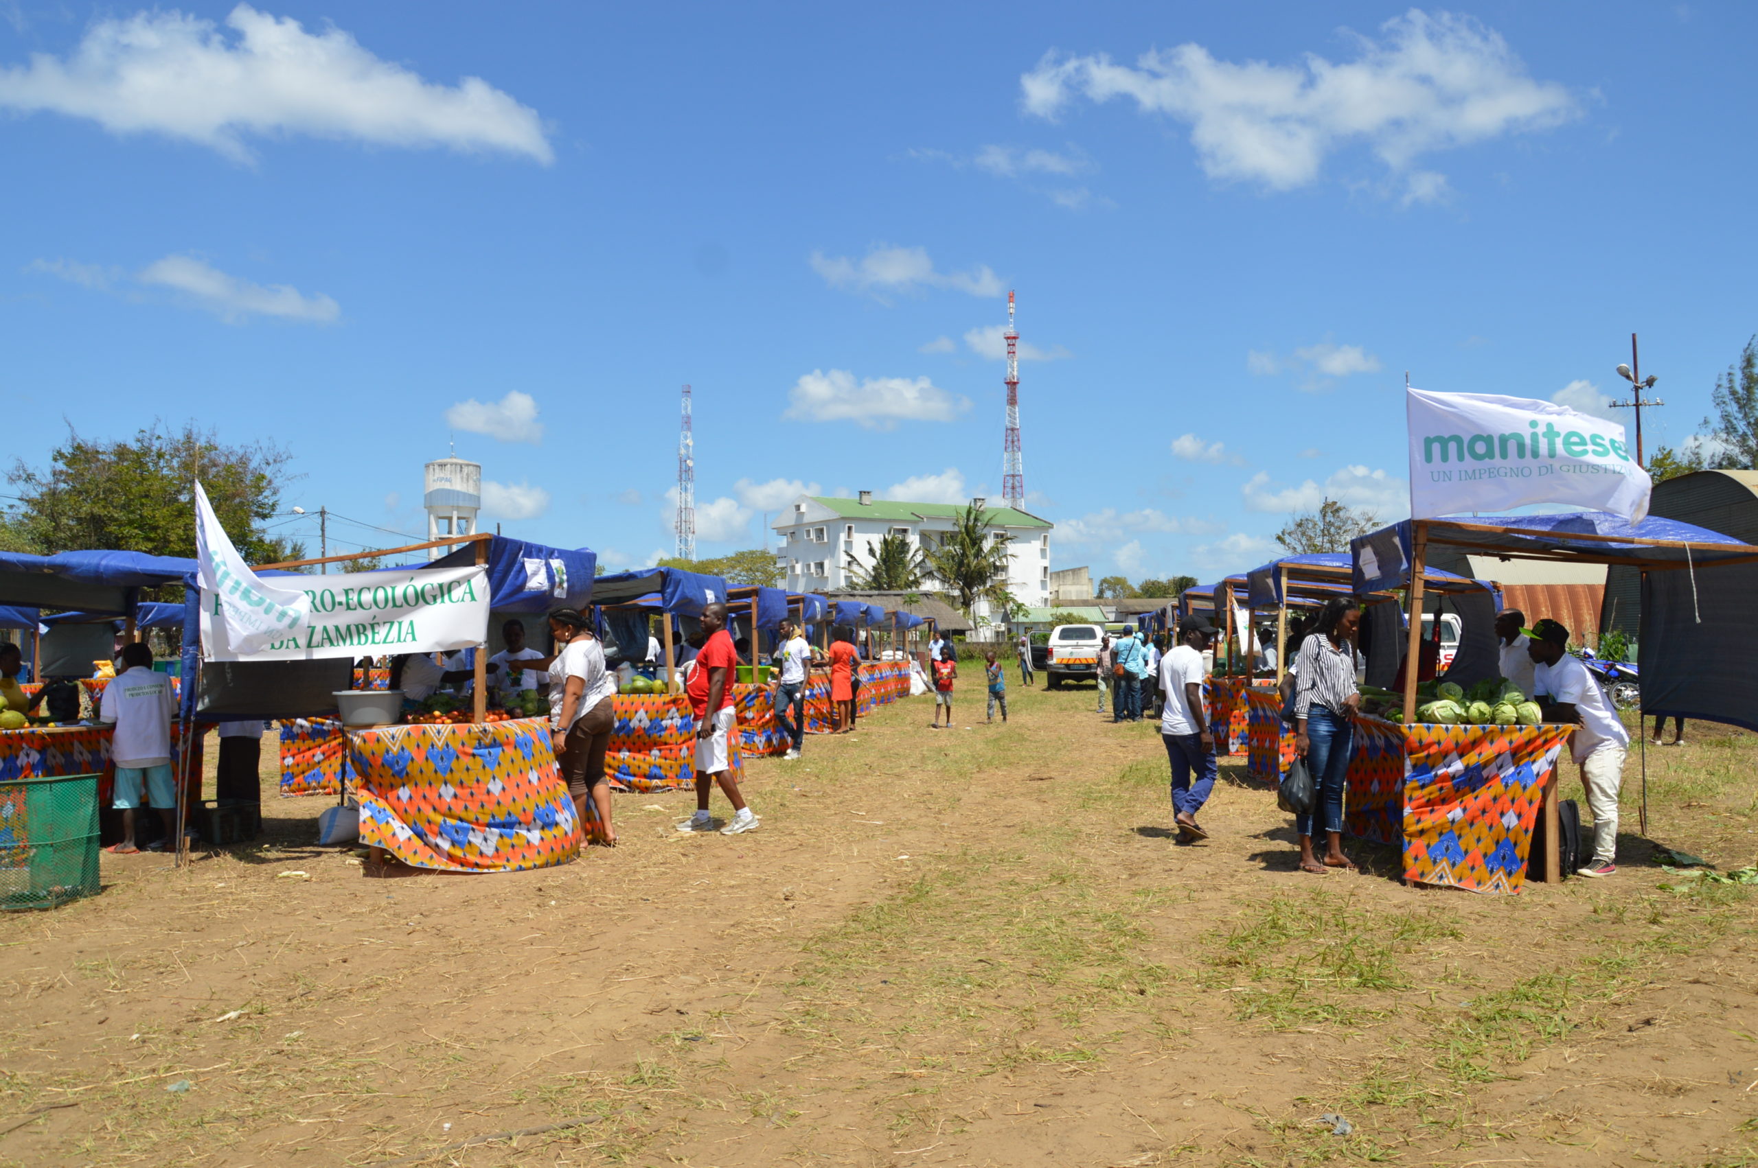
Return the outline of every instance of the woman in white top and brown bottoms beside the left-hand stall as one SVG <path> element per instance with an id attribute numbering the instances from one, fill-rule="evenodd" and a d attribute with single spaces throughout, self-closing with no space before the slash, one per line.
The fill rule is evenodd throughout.
<path id="1" fill-rule="evenodd" d="M 568 780 L 580 831 L 585 831 L 585 801 L 598 810 L 607 841 L 615 847 L 610 826 L 610 783 L 605 782 L 605 750 L 610 746 L 612 706 L 617 678 L 605 669 L 605 648 L 571 608 L 550 613 L 556 655 L 527 659 L 526 669 L 548 669 L 550 734 L 556 761 Z"/>

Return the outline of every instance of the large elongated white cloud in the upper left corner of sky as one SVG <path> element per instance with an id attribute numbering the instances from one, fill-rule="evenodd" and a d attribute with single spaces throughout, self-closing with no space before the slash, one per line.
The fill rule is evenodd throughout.
<path id="1" fill-rule="evenodd" d="M 339 28 L 313 35 L 248 4 L 225 26 L 178 11 L 100 19 L 65 60 L 33 53 L 0 68 L 0 109 L 163 133 L 239 162 L 246 137 L 290 133 L 554 160 L 536 111 L 480 77 L 434 84 Z"/>

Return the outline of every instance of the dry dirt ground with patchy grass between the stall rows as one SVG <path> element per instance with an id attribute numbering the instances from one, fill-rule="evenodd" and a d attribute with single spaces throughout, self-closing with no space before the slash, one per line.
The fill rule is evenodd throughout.
<path id="1" fill-rule="evenodd" d="M 1751 889 L 1635 752 L 1616 878 L 1478 898 L 1299 873 L 1238 766 L 1180 847 L 1155 727 L 974 697 L 505 876 L 362 878 L 265 739 L 265 840 L 0 919 L 0 1164 L 1758 1163 Z M 1754 761 L 1651 748 L 1651 838 L 1751 864 Z"/>

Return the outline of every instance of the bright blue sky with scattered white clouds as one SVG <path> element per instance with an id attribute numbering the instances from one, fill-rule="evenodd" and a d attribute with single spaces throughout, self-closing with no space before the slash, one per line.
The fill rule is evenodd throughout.
<path id="1" fill-rule="evenodd" d="M 1210 580 L 1403 515 L 1405 371 L 1598 407 L 1637 330 L 1653 451 L 1758 330 L 1751 5 L 948 7 L 0 4 L 4 453 L 197 418 L 415 532 L 455 439 L 622 567 L 691 383 L 708 555 L 999 495 L 1013 288 L 1057 567 Z"/>

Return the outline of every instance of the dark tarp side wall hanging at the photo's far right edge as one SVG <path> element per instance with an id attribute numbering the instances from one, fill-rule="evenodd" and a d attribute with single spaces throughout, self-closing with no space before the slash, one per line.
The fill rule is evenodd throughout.
<path id="1" fill-rule="evenodd" d="M 1758 564 L 1644 573 L 1642 713 L 1758 731 L 1753 597 Z"/>

